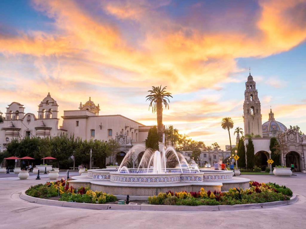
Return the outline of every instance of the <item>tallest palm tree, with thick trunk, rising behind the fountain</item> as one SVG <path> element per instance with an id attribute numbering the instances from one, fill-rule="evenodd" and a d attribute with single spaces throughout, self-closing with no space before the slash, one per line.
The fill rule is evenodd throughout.
<path id="1" fill-rule="evenodd" d="M 162 85 L 159 87 L 152 86 L 152 90 L 148 92 L 150 92 L 150 94 L 146 96 L 146 101 L 150 101 L 149 110 L 150 107 L 152 107 L 152 113 L 157 113 L 157 131 L 159 133 L 159 141 L 162 141 L 162 105 L 165 105 L 165 108 L 168 107 L 169 109 L 169 97 L 173 97 L 171 96 L 171 93 L 166 92 L 166 87 L 162 88 Z"/>

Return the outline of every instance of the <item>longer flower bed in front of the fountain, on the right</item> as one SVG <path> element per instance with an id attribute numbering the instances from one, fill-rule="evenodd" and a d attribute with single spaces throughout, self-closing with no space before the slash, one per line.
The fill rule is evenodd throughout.
<path id="1" fill-rule="evenodd" d="M 250 188 L 242 190 L 232 188 L 227 192 L 211 192 L 201 188 L 199 192 L 171 192 L 159 193 L 148 198 L 150 204 L 164 205 L 234 205 L 254 204 L 289 200 L 291 189 L 273 183 L 250 182 Z"/>

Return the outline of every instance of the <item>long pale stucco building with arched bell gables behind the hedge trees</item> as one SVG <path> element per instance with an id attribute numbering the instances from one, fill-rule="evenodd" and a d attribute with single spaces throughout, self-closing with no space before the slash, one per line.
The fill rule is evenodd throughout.
<path id="1" fill-rule="evenodd" d="M 115 162 L 120 164 L 125 154 L 135 145 L 145 146 L 151 126 L 143 125 L 122 115 L 99 115 L 99 104 L 96 106 L 91 98 L 77 110 L 64 111 L 63 124 L 58 126 L 58 104 L 50 93 L 38 105 L 37 117 L 32 113 L 24 113 L 25 107 L 17 102 L 6 108 L 5 120 L 0 123 L 0 149 L 13 138 L 23 139 L 27 136 L 50 137 L 61 133 L 74 134 L 82 140 L 116 139 L 120 144 L 120 152 Z M 160 143 L 160 147 L 163 144 Z M 111 158 L 106 159 L 106 163 Z"/>

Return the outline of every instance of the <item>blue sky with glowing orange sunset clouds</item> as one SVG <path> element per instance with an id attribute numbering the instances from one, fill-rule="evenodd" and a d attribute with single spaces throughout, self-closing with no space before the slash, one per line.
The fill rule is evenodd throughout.
<path id="1" fill-rule="evenodd" d="M 306 132 L 305 38 L 306 0 L 2 0 L 0 111 L 37 116 L 50 92 L 59 116 L 91 96 L 99 115 L 156 125 L 145 96 L 162 85 L 163 124 L 225 149 L 221 120 L 243 128 L 250 67 L 263 122 L 272 107 Z"/>

